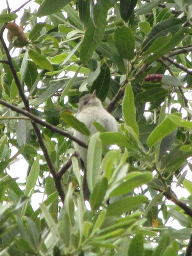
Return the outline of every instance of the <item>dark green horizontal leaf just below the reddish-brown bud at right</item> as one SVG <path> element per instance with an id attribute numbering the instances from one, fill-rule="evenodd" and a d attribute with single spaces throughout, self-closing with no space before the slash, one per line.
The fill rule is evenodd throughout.
<path id="1" fill-rule="evenodd" d="M 135 101 L 152 102 L 157 99 L 162 99 L 169 94 L 167 89 L 155 87 L 149 90 L 141 91 L 135 96 Z"/>

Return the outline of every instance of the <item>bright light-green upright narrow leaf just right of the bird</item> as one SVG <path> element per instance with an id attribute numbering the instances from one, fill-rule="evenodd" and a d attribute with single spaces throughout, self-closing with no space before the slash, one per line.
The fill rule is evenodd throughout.
<path id="1" fill-rule="evenodd" d="M 134 95 L 130 83 L 128 83 L 125 87 L 124 97 L 122 101 L 122 113 L 126 125 L 130 126 L 136 133 L 137 137 L 139 137 L 134 107 Z"/>

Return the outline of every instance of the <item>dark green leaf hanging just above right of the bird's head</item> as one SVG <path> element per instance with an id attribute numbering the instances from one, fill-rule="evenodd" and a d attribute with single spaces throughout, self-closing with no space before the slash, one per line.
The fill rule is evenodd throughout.
<path id="1" fill-rule="evenodd" d="M 108 93 L 110 85 L 110 69 L 109 67 L 101 67 L 100 73 L 97 78 L 94 80 L 90 92 L 92 93 L 96 90 L 96 96 L 103 101 Z"/>

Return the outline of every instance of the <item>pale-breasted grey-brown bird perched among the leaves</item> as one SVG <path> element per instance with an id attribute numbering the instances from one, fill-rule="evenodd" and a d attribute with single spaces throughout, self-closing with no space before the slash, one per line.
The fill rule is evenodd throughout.
<path id="1" fill-rule="evenodd" d="M 94 90 L 92 94 L 86 94 L 82 96 L 78 103 L 78 114 L 76 118 L 84 122 L 87 126 L 88 130 L 90 131 L 90 135 L 97 132 L 95 126 L 92 122 L 100 123 L 107 131 L 117 131 L 117 122 L 115 118 L 108 113 L 102 106 L 100 99 L 96 97 L 96 91 Z M 78 139 L 82 140 L 86 143 L 88 137 L 83 135 L 82 133 L 78 132 L 77 130 L 74 131 L 73 135 Z M 78 145 L 74 142 L 74 149 L 80 156 L 81 160 L 83 161 L 84 165 L 84 180 L 86 179 L 86 156 L 87 156 L 87 149 Z M 85 189 L 85 188 L 84 188 Z M 84 190 L 83 189 L 83 190 Z M 86 189 L 85 189 L 86 190 Z M 86 192 L 84 191 L 84 195 Z M 88 194 L 88 193 L 87 193 Z M 85 195 L 85 199 L 88 195 Z"/>

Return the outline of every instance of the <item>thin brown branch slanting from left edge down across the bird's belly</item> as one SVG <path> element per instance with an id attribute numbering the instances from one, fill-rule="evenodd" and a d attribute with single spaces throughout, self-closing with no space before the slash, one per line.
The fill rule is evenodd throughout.
<path id="1" fill-rule="evenodd" d="M 70 134 L 69 132 L 66 132 L 46 121 L 43 121 L 42 119 L 40 119 L 39 117 L 37 117 L 36 115 L 26 111 L 26 110 L 23 110 L 21 108 L 18 108 L 17 106 L 14 106 L 8 102 L 6 102 L 5 100 L 3 99 L 0 99 L 0 104 L 4 105 L 4 106 L 7 106 L 8 108 L 10 108 L 12 111 L 15 111 L 17 113 L 20 113 L 20 114 L 23 114 L 24 116 L 27 116 L 28 118 L 30 118 L 31 120 L 33 120 L 34 122 L 42 125 L 42 126 L 45 126 L 47 127 L 48 129 L 50 129 L 52 132 L 56 132 L 56 133 L 59 133 L 65 137 L 68 137 L 70 138 L 71 140 L 73 140 L 74 142 L 76 142 L 78 145 L 84 147 L 84 148 L 87 148 L 87 145 L 82 142 L 80 139 L 76 138 L 75 136 L 73 136 L 72 134 Z"/>

